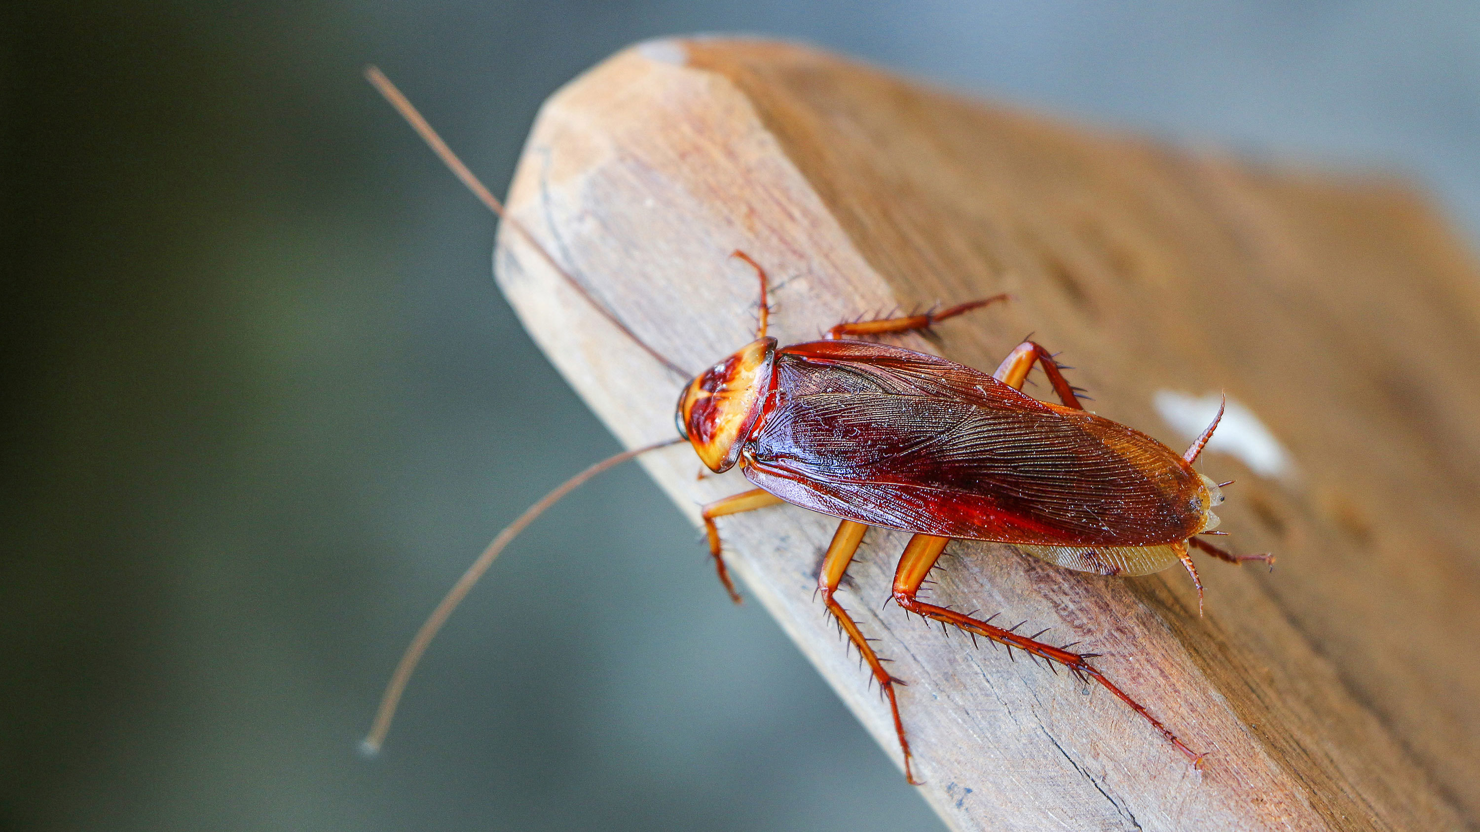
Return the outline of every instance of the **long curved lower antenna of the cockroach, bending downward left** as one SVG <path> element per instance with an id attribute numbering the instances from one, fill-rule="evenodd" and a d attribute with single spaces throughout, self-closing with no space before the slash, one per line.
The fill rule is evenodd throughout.
<path id="1" fill-rule="evenodd" d="M 391 674 L 391 681 L 385 686 L 385 693 L 380 696 L 380 709 L 376 711 L 374 724 L 370 726 L 370 734 L 360 743 L 360 751 L 367 757 L 374 757 L 380 752 L 380 745 L 385 743 L 385 734 L 391 730 L 391 720 L 395 718 L 395 706 L 401 702 L 401 693 L 406 692 L 406 683 L 411 680 L 411 672 L 416 671 L 416 664 L 422 661 L 422 653 L 426 652 L 426 646 L 437 637 L 437 631 L 443 628 L 443 624 L 447 624 L 447 616 L 457 609 L 457 604 L 468 596 L 472 585 L 478 582 L 478 578 L 482 578 L 482 573 L 488 570 L 493 559 L 499 557 L 499 553 L 503 551 L 503 548 L 509 545 L 514 538 L 519 536 L 519 532 L 528 528 L 528 525 L 533 523 L 536 517 L 543 514 L 546 508 L 559 502 L 561 498 L 576 491 L 582 483 L 601 471 L 620 466 L 639 454 L 678 445 L 679 442 L 684 440 L 669 439 L 667 442 L 659 442 L 656 445 L 648 445 L 647 448 L 623 451 L 616 457 L 608 457 L 561 483 L 559 488 L 546 494 L 534 505 L 525 508 L 524 514 L 519 514 L 518 520 L 509 523 L 502 532 L 499 532 L 499 536 L 493 538 L 488 548 L 482 550 L 482 554 L 480 554 L 478 559 L 472 562 L 472 566 L 463 572 L 463 576 L 453 584 L 453 588 L 447 591 L 447 596 L 444 596 L 443 601 L 437 604 L 432 615 L 426 616 L 426 622 L 422 624 L 422 628 L 416 631 L 416 638 L 411 638 L 411 644 L 407 646 L 406 653 L 401 655 L 401 662 L 395 665 L 395 672 Z"/>

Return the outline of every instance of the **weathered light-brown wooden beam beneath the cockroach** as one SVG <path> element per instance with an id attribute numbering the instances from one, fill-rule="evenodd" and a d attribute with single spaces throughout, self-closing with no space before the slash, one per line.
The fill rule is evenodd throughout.
<path id="1" fill-rule="evenodd" d="M 844 603 L 910 683 L 916 771 L 953 828 L 1480 823 L 1480 276 L 1410 192 L 1095 134 L 795 46 L 672 40 L 555 95 L 509 202 L 696 371 L 752 337 L 755 282 L 727 257 L 741 248 L 778 284 L 781 343 L 1009 291 L 897 343 L 990 371 L 1032 331 L 1104 415 L 1178 445 L 1153 395 L 1227 390 L 1292 451 L 1286 480 L 1206 458 L 1237 479 L 1224 539 L 1279 553 L 1273 573 L 1205 562 L 1206 618 L 1181 570 L 1101 578 L 995 544 L 953 544 L 934 590 L 1106 653 L 1211 752 L 1202 771 L 1106 692 L 881 610 L 906 535 L 870 532 Z M 629 445 L 670 436 L 681 380 L 500 241 L 505 291 L 591 406 Z M 746 488 L 696 480 L 687 448 L 648 470 L 696 520 Z M 721 523 L 747 596 L 898 758 L 813 599 L 835 523 L 795 507 Z"/>

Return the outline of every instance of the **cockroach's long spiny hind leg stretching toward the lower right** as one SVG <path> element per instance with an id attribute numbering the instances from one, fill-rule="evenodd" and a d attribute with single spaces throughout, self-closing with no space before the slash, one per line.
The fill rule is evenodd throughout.
<path id="1" fill-rule="evenodd" d="M 1018 635 L 1012 630 L 1003 630 L 1000 627 L 993 627 L 986 621 L 978 621 L 968 615 L 946 609 L 937 604 L 928 604 L 916 599 L 921 582 L 929 575 L 931 567 L 935 566 L 935 560 L 940 557 L 941 551 L 946 548 L 949 538 L 940 538 L 934 535 L 915 535 L 910 538 L 909 545 L 904 547 L 904 554 L 900 556 L 900 566 L 894 573 L 894 603 L 900 604 L 900 609 L 906 612 L 913 612 L 915 615 L 931 618 L 944 624 L 950 624 L 958 630 L 971 632 L 972 635 L 981 635 L 990 638 L 999 644 L 1008 647 L 1008 653 L 1012 653 L 1012 647 L 1023 650 L 1030 656 L 1045 659 L 1048 662 L 1057 662 L 1069 668 L 1080 680 L 1094 678 L 1106 690 L 1114 693 L 1122 702 L 1131 706 L 1132 711 L 1151 723 L 1166 742 L 1177 746 L 1178 751 L 1187 755 L 1193 761 L 1193 765 L 1202 767 L 1202 754 L 1187 748 L 1183 740 L 1177 739 L 1166 726 L 1156 720 L 1140 702 L 1131 699 L 1128 693 L 1114 686 L 1103 672 L 1089 664 L 1089 659 L 1095 658 L 1098 653 L 1070 653 L 1064 647 L 1054 647 L 1052 644 L 1045 644 L 1029 638 L 1027 635 Z M 1014 628 L 1015 630 L 1015 628 Z"/>

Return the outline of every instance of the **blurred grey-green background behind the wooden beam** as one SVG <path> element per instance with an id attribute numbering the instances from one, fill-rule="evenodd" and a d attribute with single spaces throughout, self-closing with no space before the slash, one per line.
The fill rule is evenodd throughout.
<path id="1" fill-rule="evenodd" d="M 938 829 L 490 279 L 540 100 L 670 33 L 798 37 L 981 96 L 1424 180 L 1480 229 L 1474 3 L 6 4 L 0 826 Z M 669 426 L 654 426 L 666 436 Z M 863 684 L 863 675 L 858 678 Z"/>

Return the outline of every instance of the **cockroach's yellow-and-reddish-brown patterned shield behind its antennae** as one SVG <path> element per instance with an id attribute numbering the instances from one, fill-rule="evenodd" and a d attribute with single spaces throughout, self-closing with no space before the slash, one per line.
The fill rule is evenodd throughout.
<path id="1" fill-rule="evenodd" d="M 761 338 L 700 372 L 678 396 L 678 434 L 712 471 L 740 458 L 743 439 L 761 418 L 771 384 L 776 338 Z"/>

